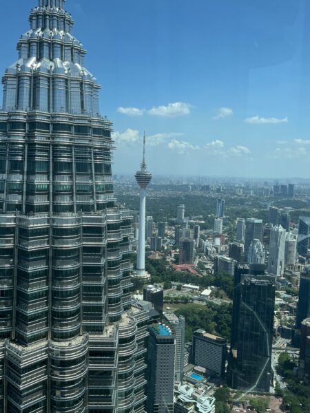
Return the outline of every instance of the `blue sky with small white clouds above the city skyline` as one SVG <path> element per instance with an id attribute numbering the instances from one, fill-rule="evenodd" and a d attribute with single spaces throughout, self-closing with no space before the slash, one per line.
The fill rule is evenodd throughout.
<path id="1" fill-rule="evenodd" d="M 3 4 L 2 4 L 3 3 Z M 36 0 L 1 2 L 0 71 Z M 156 174 L 309 178 L 310 2 L 67 0 L 114 123 L 114 172 L 141 138 Z"/>

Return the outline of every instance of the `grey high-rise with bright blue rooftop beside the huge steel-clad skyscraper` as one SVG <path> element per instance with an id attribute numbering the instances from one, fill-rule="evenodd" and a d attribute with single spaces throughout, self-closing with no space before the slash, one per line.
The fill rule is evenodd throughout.
<path id="1" fill-rule="evenodd" d="M 174 411 L 175 338 L 163 324 L 149 326 L 147 348 L 147 413 Z"/>

